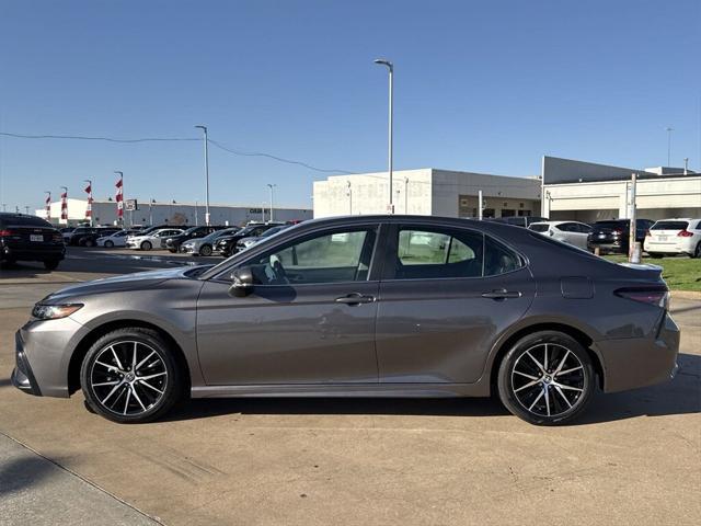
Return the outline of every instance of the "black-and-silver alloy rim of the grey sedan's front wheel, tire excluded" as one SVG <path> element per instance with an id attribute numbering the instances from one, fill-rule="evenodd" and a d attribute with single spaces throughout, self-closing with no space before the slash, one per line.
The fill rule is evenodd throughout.
<path id="1" fill-rule="evenodd" d="M 95 355 L 89 380 L 90 389 L 105 411 L 138 416 L 161 401 L 169 375 L 163 358 L 150 345 L 117 341 Z"/>

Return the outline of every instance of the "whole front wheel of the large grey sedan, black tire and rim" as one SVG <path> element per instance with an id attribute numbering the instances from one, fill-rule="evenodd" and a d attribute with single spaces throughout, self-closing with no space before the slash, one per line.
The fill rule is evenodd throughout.
<path id="1" fill-rule="evenodd" d="M 89 410 L 122 424 L 160 419 L 183 392 L 170 345 L 143 328 L 117 329 L 99 339 L 83 358 L 80 385 Z"/>

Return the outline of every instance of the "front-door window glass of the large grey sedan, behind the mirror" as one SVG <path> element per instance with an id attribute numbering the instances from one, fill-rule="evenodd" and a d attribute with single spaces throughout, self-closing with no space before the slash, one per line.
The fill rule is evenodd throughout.
<path id="1" fill-rule="evenodd" d="M 375 238 L 375 229 L 336 230 L 272 249 L 246 264 L 262 285 L 366 281 Z"/>

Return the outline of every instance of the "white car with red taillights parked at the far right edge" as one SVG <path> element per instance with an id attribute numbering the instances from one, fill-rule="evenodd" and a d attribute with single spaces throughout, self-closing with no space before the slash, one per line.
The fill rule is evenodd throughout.
<path id="1" fill-rule="evenodd" d="M 665 254 L 701 258 L 701 219 L 663 219 L 655 222 L 645 236 L 643 250 L 653 258 Z"/>

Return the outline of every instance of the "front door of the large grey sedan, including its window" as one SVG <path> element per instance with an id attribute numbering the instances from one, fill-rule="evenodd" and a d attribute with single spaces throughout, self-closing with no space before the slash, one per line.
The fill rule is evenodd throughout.
<path id="1" fill-rule="evenodd" d="M 208 385 L 377 382 L 377 225 L 324 230 L 254 254 L 255 285 L 205 284 L 197 346 Z"/>

